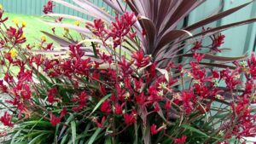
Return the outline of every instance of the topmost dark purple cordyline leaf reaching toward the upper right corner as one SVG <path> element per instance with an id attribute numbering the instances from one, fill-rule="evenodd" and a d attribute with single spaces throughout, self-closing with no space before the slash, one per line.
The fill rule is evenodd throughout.
<path id="1" fill-rule="evenodd" d="M 220 20 L 220 19 L 224 18 L 225 16 L 233 14 L 237 10 L 246 7 L 248 4 L 253 3 L 253 1 L 251 1 L 249 3 L 242 4 L 242 5 L 240 5 L 240 6 L 236 7 L 236 8 L 233 8 L 233 9 L 226 10 L 226 11 L 224 11 L 222 13 L 215 14 L 215 15 L 213 15 L 213 16 L 205 19 L 205 20 L 201 20 L 201 21 L 199 21 L 199 22 L 197 22 L 197 23 L 195 23 L 195 24 L 193 24 L 191 26 L 188 26 L 188 27 L 184 28 L 184 29 L 187 30 L 187 31 L 191 31 L 191 30 L 194 30 L 194 29 L 199 28 L 201 26 L 205 26 L 205 25 L 207 25 L 209 23 L 212 23 L 215 20 Z"/>

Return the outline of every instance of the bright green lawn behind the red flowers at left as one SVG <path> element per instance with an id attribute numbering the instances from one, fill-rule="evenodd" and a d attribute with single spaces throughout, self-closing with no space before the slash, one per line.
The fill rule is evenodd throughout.
<path id="1" fill-rule="evenodd" d="M 41 39 L 44 34 L 40 31 L 45 31 L 52 33 L 51 28 L 53 26 L 49 26 L 48 24 L 43 23 L 40 20 L 43 20 L 40 16 L 33 16 L 33 15 L 26 15 L 26 14 L 10 14 L 10 13 L 5 13 L 5 16 L 9 17 L 9 20 L 6 22 L 7 26 L 15 26 L 13 20 L 18 20 L 18 22 L 21 25 L 22 21 L 26 22 L 26 28 L 24 29 L 24 33 L 26 36 L 26 44 L 27 43 L 38 43 L 38 40 Z M 45 20 L 45 18 L 44 18 Z M 53 20 L 50 18 L 47 18 L 46 20 Z M 73 24 L 73 20 L 63 20 L 65 23 L 70 23 Z M 55 27 L 55 33 L 58 36 L 62 36 L 64 33 L 64 29 L 62 27 Z M 79 33 L 70 31 L 72 36 L 79 36 Z M 49 38 L 47 38 L 47 42 L 51 43 L 53 42 Z"/>

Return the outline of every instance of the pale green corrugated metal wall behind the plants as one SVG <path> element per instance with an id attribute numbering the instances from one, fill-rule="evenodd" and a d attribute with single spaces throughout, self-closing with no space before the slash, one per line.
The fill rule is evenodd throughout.
<path id="1" fill-rule="evenodd" d="M 43 14 L 43 5 L 47 1 L 48 0 L 0 0 L 0 3 L 2 3 L 3 7 L 10 13 L 41 15 Z M 72 0 L 66 1 L 72 2 Z M 200 8 L 194 10 L 192 14 L 189 15 L 189 24 L 193 24 L 196 21 L 214 13 L 214 11 L 221 8 L 221 5 L 223 5 L 222 9 L 226 10 L 236 7 L 239 4 L 247 3 L 248 1 L 250 0 L 207 0 L 207 2 L 201 5 Z M 100 7 L 106 8 L 106 4 L 102 3 L 102 0 L 92 0 L 92 2 L 96 3 Z M 58 4 L 55 7 L 55 13 L 73 14 L 90 19 L 85 14 L 81 14 L 73 9 L 68 9 L 65 6 Z M 256 3 L 250 4 L 239 12 L 231 14 L 229 17 L 214 22 L 209 26 L 214 27 L 229 24 L 231 22 L 246 20 L 253 17 L 256 17 Z M 231 48 L 232 51 L 223 53 L 222 55 L 241 55 L 256 49 L 256 24 L 236 27 L 229 31 L 225 31 L 224 34 L 226 35 L 226 40 L 223 47 Z"/>

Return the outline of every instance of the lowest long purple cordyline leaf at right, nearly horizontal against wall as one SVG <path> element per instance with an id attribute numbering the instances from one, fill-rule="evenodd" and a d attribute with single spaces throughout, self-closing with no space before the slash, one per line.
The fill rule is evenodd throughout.
<path id="1" fill-rule="evenodd" d="M 194 54 L 184 54 L 185 57 L 193 57 Z M 234 61 L 234 60 L 244 60 L 247 58 L 247 55 L 241 55 L 236 57 L 226 57 L 226 56 L 218 56 L 218 55 L 212 55 L 212 54 L 205 54 L 203 59 L 209 59 L 209 60 L 218 60 L 218 61 Z"/>

